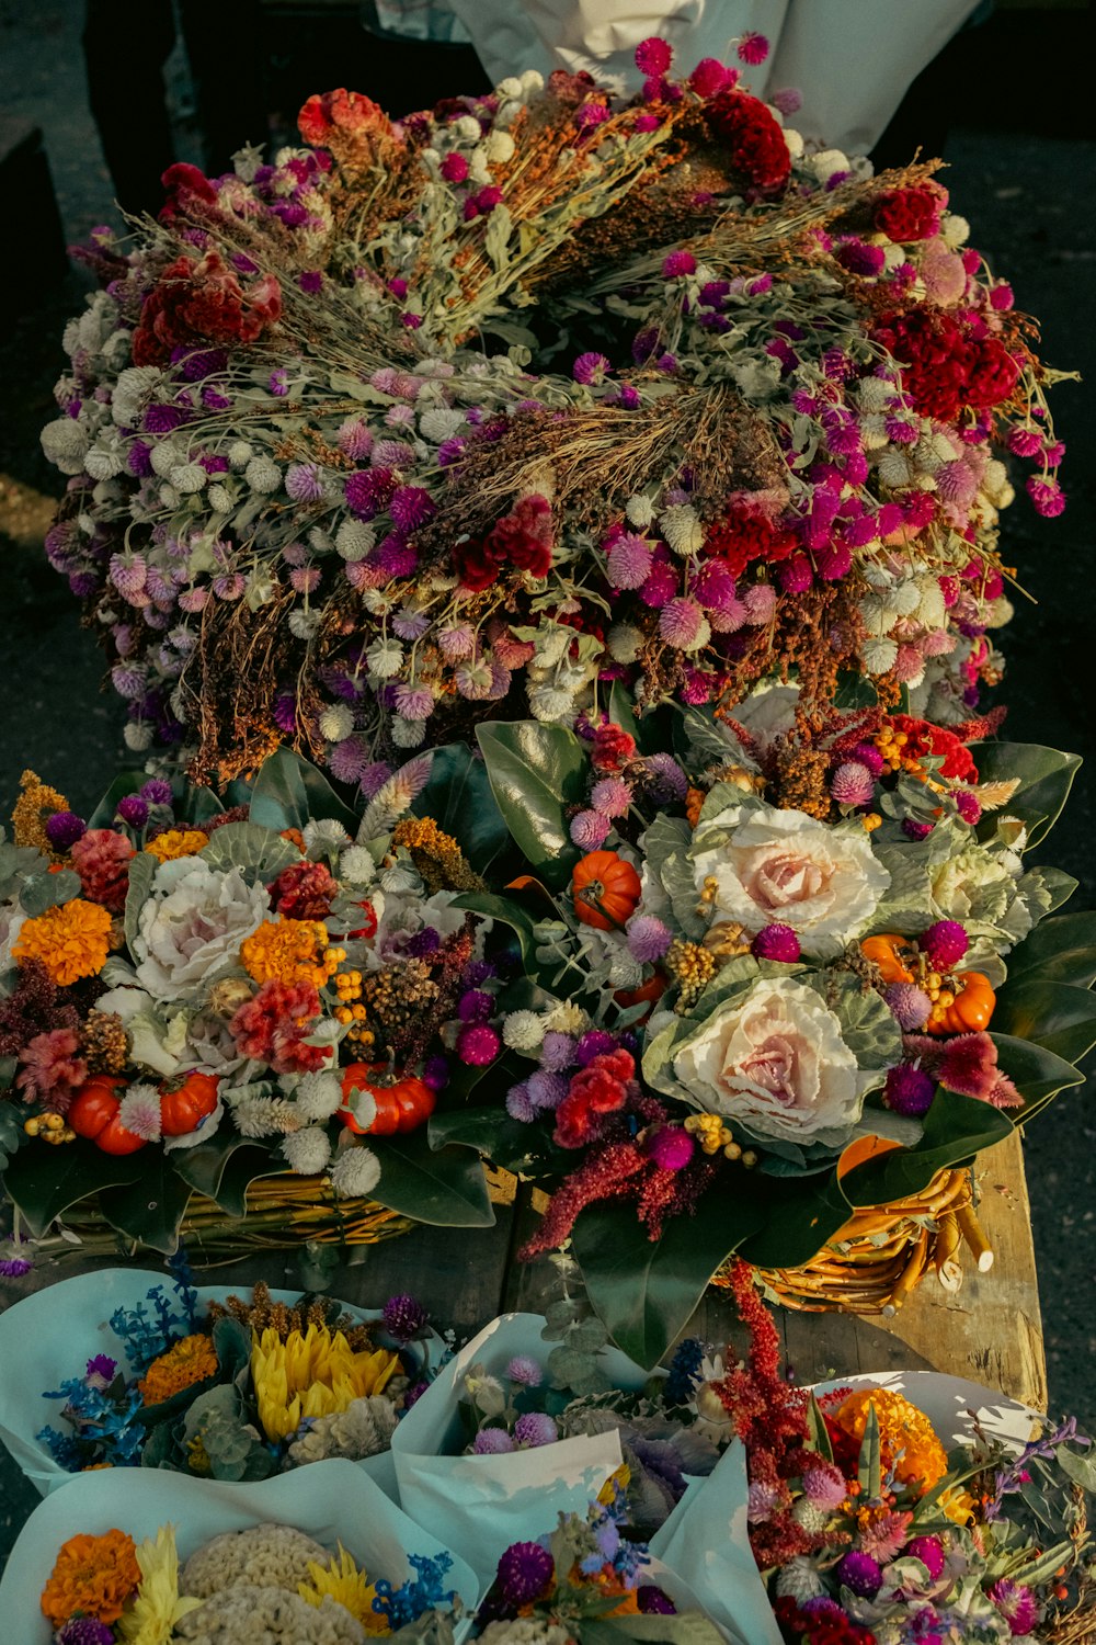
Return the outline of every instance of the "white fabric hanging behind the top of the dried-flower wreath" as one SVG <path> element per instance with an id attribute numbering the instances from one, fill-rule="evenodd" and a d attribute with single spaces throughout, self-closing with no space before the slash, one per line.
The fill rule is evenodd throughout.
<path id="1" fill-rule="evenodd" d="M 795 87 L 790 123 L 805 138 L 866 153 L 909 86 L 978 0 L 450 0 L 493 81 L 585 69 L 638 90 L 633 53 L 661 35 L 679 72 L 700 58 L 736 64 L 733 41 L 764 35 L 771 54 L 743 69 L 758 97 Z"/>

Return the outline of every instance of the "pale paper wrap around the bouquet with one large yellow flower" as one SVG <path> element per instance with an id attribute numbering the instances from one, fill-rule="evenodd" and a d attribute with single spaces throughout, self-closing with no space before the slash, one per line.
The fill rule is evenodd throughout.
<path id="1" fill-rule="evenodd" d="M 108 1354 L 125 1370 L 131 1370 L 108 1321 L 115 1308 L 136 1308 L 143 1303 L 150 1286 L 158 1283 L 168 1296 L 173 1295 L 171 1275 L 163 1268 L 100 1268 L 97 1273 L 77 1273 L 71 1280 L 48 1285 L 0 1313 L 0 1365 L 18 1365 L 18 1375 L 0 1377 L 0 1439 L 43 1497 L 79 1477 L 59 1467 L 35 1438 L 46 1425 L 67 1431 L 61 1420 L 64 1400 L 44 1400 L 43 1393 L 59 1388 L 69 1377 L 82 1377 L 87 1360 L 95 1354 Z M 228 1296 L 246 1291 L 248 1286 L 240 1285 L 197 1286 L 199 1316 L 204 1304 L 223 1303 Z M 269 1295 L 278 1303 L 294 1303 L 301 1291 Z M 340 1308 L 361 1321 L 381 1318 L 380 1309 L 353 1308 L 350 1303 L 340 1303 Z M 386 1341 L 385 1332 L 378 1332 L 378 1342 Z M 442 1347 L 440 1337 L 434 1337 L 431 1357 L 435 1364 Z M 414 1349 L 412 1344 L 412 1354 Z M 365 1469 L 396 1500 L 391 1451 L 352 1466 Z"/>

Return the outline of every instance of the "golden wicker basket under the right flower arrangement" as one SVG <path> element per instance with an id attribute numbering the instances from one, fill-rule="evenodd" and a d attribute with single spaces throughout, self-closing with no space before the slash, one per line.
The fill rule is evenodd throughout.
<path id="1" fill-rule="evenodd" d="M 930 1270 L 946 1291 L 958 1291 L 963 1242 L 981 1273 L 992 1265 L 973 1198 L 969 1170 L 940 1171 L 909 1199 L 854 1211 L 800 1268 L 761 1268 L 759 1278 L 784 1308 L 815 1314 L 894 1314 Z M 713 1283 L 725 1285 L 725 1275 Z"/>

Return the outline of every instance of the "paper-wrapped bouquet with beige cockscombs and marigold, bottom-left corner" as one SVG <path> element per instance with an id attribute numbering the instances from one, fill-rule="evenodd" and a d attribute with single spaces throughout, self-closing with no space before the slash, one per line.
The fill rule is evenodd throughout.
<path id="1" fill-rule="evenodd" d="M 472 1573 L 348 1462 L 250 1487 L 89 1474 L 35 1510 L 0 1592 L 28 1645 L 232 1645 L 256 1630 L 360 1645 L 421 1638 L 419 1617 L 478 1597 Z"/>

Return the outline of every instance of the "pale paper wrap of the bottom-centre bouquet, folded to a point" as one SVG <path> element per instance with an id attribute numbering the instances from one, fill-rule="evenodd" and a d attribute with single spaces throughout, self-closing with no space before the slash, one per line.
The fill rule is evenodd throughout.
<path id="1" fill-rule="evenodd" d="M 619 1434 L 592 1438 L 504 1456 L 454 1456 L 465 1436 L 457 1410 L 463 1375 L 481 1364 L 504 1379 L 516 1354 L 541 1364 L 555 1346 L 541 1337 L 541 1314 L 493 1319 L 449 1362 L 393 1434 L 393 1459 L 404 1512 L 468 1561 L 488 1586 L 500 1555 L 514 1541 L 536 1541 L 555 1530 L 557 1513 L 585 1513 L 588 1502 L 621 1466 Z M 618 1388 L 641 1388 L 647 1374 L 618 1349 L 600 1355 Z"/>

